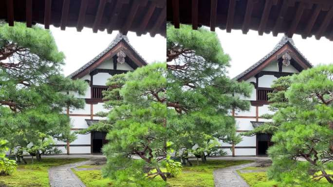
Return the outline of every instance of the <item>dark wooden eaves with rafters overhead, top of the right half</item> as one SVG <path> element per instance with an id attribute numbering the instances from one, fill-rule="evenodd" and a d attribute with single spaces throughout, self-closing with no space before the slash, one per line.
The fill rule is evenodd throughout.
<path id="1" fill-rule="evenodd" d="M 333 0 L 167 0 L 166 21 L 333 40 Z"/>

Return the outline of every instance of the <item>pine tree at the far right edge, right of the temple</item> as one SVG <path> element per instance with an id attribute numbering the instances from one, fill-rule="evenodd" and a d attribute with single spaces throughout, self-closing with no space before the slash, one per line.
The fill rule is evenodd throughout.
<path id="1" fill-rule="evenodd" d="M 271 99 L 271 107 L 278 109 L 273 123 L 279 125 L 268 150 L 273 161 L 270 178 L 304 187 L 319 186 L 320 179 L 333 184 L 328 172 L 333 169 L 332 77 L 333 65 L 325 65 L 275 83 L 281 89 Z"/>

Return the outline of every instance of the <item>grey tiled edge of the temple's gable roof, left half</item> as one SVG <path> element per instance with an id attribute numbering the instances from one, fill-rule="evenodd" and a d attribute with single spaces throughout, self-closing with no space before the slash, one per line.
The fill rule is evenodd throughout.
<path id="1" fill-rule="evenodd" d="M 77 75 L 77 74 L 81 73 L 82 71 L 84 71 L 85 69 L 87 69 L 94 62 L 96 62 L 100 57 L 102 57 L 103 55 L 105 55 L 106 53 L 108 53 L 121 40 L 124 40 L 129 45 L 129 47 L 139 56 L 139 58 L 145 63 L 145 65 L 147 65 L 146 60 L 142 56 L 139 55 L 139 53 L 133 48 L 132 45 L 130 45 L 129 38 L 126 35 L 122 35 L 121 33 L 118 33 L 117 36 L 111 41 L 111 43 L 109 44 L 109 46 L 104 51 L 102 51 L 102 53 L 100 53 L 97 56 L 95 56 L 94 58 L 92 58 L 92 60 L 90 60 L 88 63 L 86 63 L 85 65 L 83 65 L 81 68 L 79 68 L 74 73 L 72 73 L 71 75 L 69 75 L 69 77 L 73 78 L 75 75 Z"/>

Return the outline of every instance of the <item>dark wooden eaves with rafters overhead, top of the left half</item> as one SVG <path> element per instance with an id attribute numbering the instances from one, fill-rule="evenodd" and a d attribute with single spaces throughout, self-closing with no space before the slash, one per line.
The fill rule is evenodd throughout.
<path id="1" fill-rule="evenodd" d="M 27 27 L 40 23 L 60 27 L 92 28 L 96 33 L 107 29 L 138 36 L 166 36 L 165 0 L 1 0 L 0 19 L 10 26 L 14 21 L 26 22 Z"/>

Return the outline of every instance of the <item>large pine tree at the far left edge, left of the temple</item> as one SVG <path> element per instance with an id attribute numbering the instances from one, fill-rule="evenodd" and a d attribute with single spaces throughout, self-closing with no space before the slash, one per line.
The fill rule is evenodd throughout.
<path id="1" fill-rule="evenodd" d="M 84 94 L 87 84 L 61 74 L 64 58 L 49 30 L 0 24 L 0 138 L 19 156 L 28 145 L 73 137 L 63 110 L 84 107 L 74 93 Z"/>

